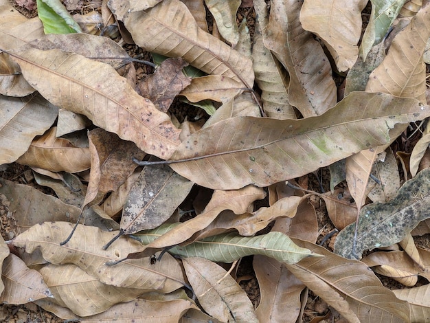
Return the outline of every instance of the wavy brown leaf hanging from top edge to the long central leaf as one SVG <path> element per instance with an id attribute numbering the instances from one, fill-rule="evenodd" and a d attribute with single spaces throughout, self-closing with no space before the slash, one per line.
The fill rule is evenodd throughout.
<path id="1" fill-rule="evenodd" d="M 262 6 L 266 6 L 264 1 L 254 5 L 257 18 Z M 274 0 L 267 28 L 260 23 L 264 45 L 290 74 L 288 100 L 306 118 L 334 107 L 337 90 L 324 50 L 300 24 L 301 7 L 301 1 Z"/>

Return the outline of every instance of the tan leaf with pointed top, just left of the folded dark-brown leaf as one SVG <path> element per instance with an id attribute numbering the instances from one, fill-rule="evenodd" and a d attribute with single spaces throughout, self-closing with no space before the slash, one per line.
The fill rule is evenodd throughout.
<path id="1" fill-rule="evenodd" d="M 90 167 L 89 148 L 73 146 L 69 140 L 55 135 L 52 127 L 33 140 L 30 148 L 16 160 L 19 164 L 43 168 L 52 172 L 82 172 Z"/>

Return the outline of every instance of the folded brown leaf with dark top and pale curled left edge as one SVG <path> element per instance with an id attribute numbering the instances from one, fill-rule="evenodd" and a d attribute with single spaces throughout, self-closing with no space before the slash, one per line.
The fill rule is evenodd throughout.
<path id="1" fill-rule="evenodd" d="M 100 128 L 89 131 L 88 139 L 91 170 L 83 205 L 94 199 L 94 203 L 99 203 L 106 193 L 116 191 L 137 167 L 132 157 L 143 159 L 145 156 L 133 142 L 121 140 L 115 133 Z"/>

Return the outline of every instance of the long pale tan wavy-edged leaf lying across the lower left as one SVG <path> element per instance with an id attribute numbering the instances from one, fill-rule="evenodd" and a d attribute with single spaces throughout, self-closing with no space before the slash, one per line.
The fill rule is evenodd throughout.
<path id="1" fill-rule="evenodd" d="M 181 267 L 168 255 L 163 256 L 162 262 L 153 265 L 149 257 L 106 265 L 109 260 L 120 260 L 142 249 L 141 243 L 126 236 L 118 238 L 107 250 L 102 249 L 118 232 L 104 232 L 98 227 L 78 225 L 70 241 L 60 245 L 69 236 L 72 227 L 67 222 L 37 224 L 14 238 L 12 245 L 25 248 L 28 253 L 39 249 L 49 263 L 74 263 L 108 285 L 168 293 L 185 284 Z"/>

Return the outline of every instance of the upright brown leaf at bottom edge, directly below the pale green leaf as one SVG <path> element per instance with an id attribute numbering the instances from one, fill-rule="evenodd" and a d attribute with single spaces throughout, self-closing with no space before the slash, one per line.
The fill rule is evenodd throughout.
<path id="1" fill-rule="evenodd" d="M 295 323 L 300 313 L 300 294 L 305 285 L 282 263 L 265 256 L 253 257 L 260 287 L 256 314 L 260 323 Z"/>

